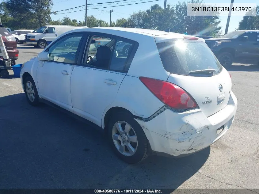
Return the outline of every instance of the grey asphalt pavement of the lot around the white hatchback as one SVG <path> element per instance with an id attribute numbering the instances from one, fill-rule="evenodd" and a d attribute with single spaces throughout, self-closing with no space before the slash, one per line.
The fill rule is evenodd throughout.
<path id="1" fill-rule="evenodd" d="M 42 51 L 18 49 L 17 64 Z M 135 165 L 113 154 L 101 130 L 30 106 L 20 78 L 0 78 L 0 188 L 259 188 L 259 66 L 228 70 L 238 98 L 230 130 L 196 154 Z"/>

